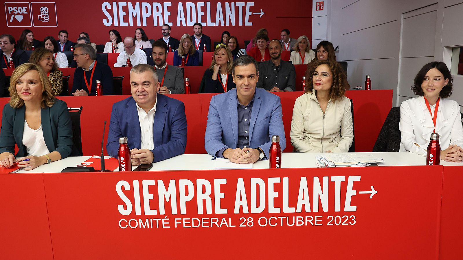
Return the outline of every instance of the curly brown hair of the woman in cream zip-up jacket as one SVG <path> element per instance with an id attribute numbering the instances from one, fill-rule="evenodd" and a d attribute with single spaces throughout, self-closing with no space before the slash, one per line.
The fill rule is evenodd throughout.
<path id="1" fill-rule="evenodd" d="M 327 65 L 328 68 L 330 68 L 331 74 L 333 77 L 333 83 L 330 89 L 330 99 L 333 99 L 333 100 L 342 99 L 344 97 L 344 93 L 346 89 L 349 89 L 350 85 L 347 82 L 347 77 L 343 71 L 343 68 L 337 61 L 324 60 L 324 61 L 312 62 L 312 64 L 309 64 L 309 66 L 311 67 L 310 69 L 307 70 L 307 74 L 306 74 L 306 80 L 307 80 L 306 93 L 312 92 L 313 74 L 315 73 L 315 69 L 318 66 L 323 65 L 323 64 Z"/>

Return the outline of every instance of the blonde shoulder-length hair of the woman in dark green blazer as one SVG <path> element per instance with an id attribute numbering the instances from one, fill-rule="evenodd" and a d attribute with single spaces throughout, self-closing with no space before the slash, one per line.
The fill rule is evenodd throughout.
<path id="1" fill-rule="evenodd" d="M 40 106 L 42 108 L 52 107 L 55 103 L 55 96 L 51 91 L 51 83 L 45 74 L 42 67 L 34 63 L 24 63 L 19 65 L 14 69 L 13 74 L 11 74 L 10 87 L 8 91 L 10 92 L 10 106 L 13 108 L 19 108 L 24 105 L 24 100 L 19 97 L 18 91 L 16 91 L 16 82 L 19 78 L 22 77 L 26 72 L 30 70 L 36 70 L 39 75 L 40 84 L 42 84 L 42 102 Z"/>

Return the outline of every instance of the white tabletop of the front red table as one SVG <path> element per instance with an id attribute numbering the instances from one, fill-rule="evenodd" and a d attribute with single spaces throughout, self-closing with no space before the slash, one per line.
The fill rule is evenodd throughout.
<path id="1" fill-rule="evenodd" d="M 411 152 L 385 152 L 385 153 L 346 153 L 375 155 L 383 160 L 378 166 L 421 166 L 425 165 L 425 157 Z M 283 153 L 282 168 L 310 168 L 317 167 L 315 155 L 322 153 Z M 30 171 L 21 170 L 18 173 L 60 173 L 66 167 L 75 167 L 87 160 L 90 156 L 68 157 L 50 164 L 44 164 Z M 207 154 L 178 155 L 173 158 L 158 161 L 153 164 L 150 171 L 182 171 L 182 170 L 213 170 L 213 157 Z M 444 166 L 463 166 L 463 162 L 440 161 Z M 135 168 L 135 167 L 133 167 Z M 254 169 L 268 169 L 269 161 L 257 161 Z M 118 171 L 116 169 L 116 171 Z"/>

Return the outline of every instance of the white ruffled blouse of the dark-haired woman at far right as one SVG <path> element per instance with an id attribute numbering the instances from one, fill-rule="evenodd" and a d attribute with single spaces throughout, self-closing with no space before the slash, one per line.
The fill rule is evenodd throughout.
<path id="1" fill-rule="evenodd" d="M 433 115 L 435 107 L 435 105 L 430 106 Z M 402 102 L 402 105 L 400 105 L 399 130 L 402 136 L 400 152 L 409 151 L 423 156 L 426 155 L 431 134 L 434 130 L 434 123 L 424 97 L 408 99 Z M 460 106 L 457 101 L 440 99 L 435 132 L 439 134 L 439 144 L 442 150 L 447 149 L 450 144 L 463 147 L 463 127 Z M 416 146 L 415 143 L 419 146 Z"/>

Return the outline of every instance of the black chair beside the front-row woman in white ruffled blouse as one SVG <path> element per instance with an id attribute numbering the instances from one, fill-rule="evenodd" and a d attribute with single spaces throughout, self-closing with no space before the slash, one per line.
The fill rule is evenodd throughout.
<path id="1" fill-rule="evenodd" d="M 399 130 L 400 106 L 394 106 L 382 125 L 373 152 L 398 152 L 402 135 Z"/>

